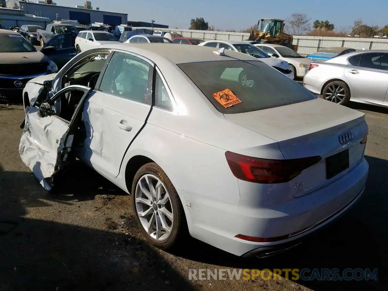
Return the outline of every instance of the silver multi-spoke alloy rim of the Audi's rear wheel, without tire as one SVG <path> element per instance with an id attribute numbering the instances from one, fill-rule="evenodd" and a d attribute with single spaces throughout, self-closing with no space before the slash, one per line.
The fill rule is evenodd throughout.
<path id="1" fill-rule="evenodd" d="M 145 174 L 139 179 L 135 206 L 140 223 L 150 237 L 164 241 L 170 236 L 174 213 L 170 195 L 158 177 Z"/>

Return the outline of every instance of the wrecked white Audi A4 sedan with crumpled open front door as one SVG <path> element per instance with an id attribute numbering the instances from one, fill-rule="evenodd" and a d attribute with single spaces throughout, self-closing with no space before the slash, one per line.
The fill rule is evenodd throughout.
<path id="1" fill-rule="evenodd" d="M 99 46 L 29 81 L 23 97 L 19 152 L 43 187 L 80 159 L 132 194 L 161 249 L 188 231 L 238 256 L 273 255 L 364 191 L 364 114 L 239 52 Z"/>

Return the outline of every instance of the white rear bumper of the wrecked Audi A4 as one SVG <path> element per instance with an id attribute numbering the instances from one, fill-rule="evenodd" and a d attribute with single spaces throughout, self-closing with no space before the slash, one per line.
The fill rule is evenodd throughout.
<path id="1" fill-rule="evenodd" d="M 355 168 L 325 187 L 270 207 L 255 206 L 258 194 L 252 189 L 256 185 L 244 181 L 239 181 L 240 203 L 177 190 L 182 203 L 190 201 L 185 212 L 193 237 L 237 256 L 265 257 L 292 248 L 343 215 L 362 196 L 368 170 L 363 158 Z M 238 234 L 279 240 L 253 242 L 236 238 Z"/>

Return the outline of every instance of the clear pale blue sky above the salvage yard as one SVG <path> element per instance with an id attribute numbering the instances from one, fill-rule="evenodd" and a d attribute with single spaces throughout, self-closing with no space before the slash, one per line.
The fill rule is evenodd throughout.
<path id="1" fill-rule="evenodd" d="M 57 5 L 83 5 L 83 0 L 54 0 Z M 259 18 L 285 19 L 292 13 L 307 14 L 314 20 L 328 20 L 336 29 L 352 26 L 361 18 L 367 25 L 388 23 L 387 0 L 91 0 L 93 8 L 128 13 L 128 20 L 168 24 L 170 28 L 190 26 L 190 20 L 203 17 L 216 29 L 248 28 Z"/>

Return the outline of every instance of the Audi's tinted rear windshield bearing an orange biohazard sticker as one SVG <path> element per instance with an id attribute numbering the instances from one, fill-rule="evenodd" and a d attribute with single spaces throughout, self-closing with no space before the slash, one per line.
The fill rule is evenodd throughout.
<path id="1" fill-rule="evenodd" d="M 244 113 L 317 98 L 262 61 L 192 62 L 178 66 L 221 113 Z M 225 89 L 241 103 L 227 108 L 221 105 L 226 99 L 219 101 L 213 94 Z"/>

